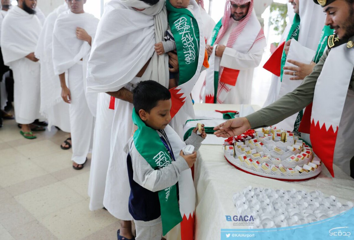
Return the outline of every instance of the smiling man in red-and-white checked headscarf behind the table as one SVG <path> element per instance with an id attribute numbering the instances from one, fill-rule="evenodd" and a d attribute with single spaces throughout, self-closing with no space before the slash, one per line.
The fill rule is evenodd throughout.
<path id="1" fill-rule="evenodd" d="M 227 0 L 224 16 L 216 24 L 209 43 L 205 102 L 250 104 L 253 71 L 266 46 L 253 0 Z"/>

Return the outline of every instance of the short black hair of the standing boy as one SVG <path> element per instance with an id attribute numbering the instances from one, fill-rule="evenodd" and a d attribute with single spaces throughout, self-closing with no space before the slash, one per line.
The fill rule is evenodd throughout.
<path id="1" fill-rule="evenodd" d="M 170 91 L 153 80 L 139 82 L 133 90 L 133 105 L 138 115 L 140 109 L 149 113 L 156 107 L 158 101 L 169 99 L 171 99 Z"/>

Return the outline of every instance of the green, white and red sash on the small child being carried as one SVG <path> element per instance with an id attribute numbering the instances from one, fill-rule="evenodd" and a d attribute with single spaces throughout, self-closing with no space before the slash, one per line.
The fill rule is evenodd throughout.
<path id="1" fill-rule="evenodd" d="M 192 92 L 199 78 L 205 55 L 204 34 L 198 26 L 201 22 L 199 6 L 194 1 L 190 4 L 193 5 L 195 16 L 188 9 L 175 8 L 169 0 L 166 1 L 167 19 L 175 38 L 179 65 L 178 86 L 170 89 L 171 117 L 176 115 L 183 106 L 185 98 Z"/>

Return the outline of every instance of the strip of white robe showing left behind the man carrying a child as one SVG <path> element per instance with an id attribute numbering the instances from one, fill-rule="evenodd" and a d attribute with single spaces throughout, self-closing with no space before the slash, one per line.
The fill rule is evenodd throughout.
<path id="1" fill-rule="evenodd" d="M 103 197 L 110 156 L 110 141 L 114 110 L 109 109 L 110 95 L 99 93 L 95 131 L 93 133 L 93 149 L 89 178 L 89 196 L 91 211 L 103 208 Z"/>

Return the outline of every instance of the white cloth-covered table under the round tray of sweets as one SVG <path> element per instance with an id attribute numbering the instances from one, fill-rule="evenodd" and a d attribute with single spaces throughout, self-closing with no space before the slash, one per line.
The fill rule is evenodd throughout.
<path id="1" fill-rule="evenodd" d="M 258 106 L 252 106 L 257 110 Z M 195 104 L 195 110 L 235 110 L 240 105 Z M 334 166 L 336 168 L 336 166 Z M 338 170 L 339 171 L 339 170 Z M 241 172 L 224 158 L 220 145 L 202 145 L 194 169 L 196 187 L 196 240 L 220 239 L 221 229 L 246 228 L 233 226 L 225 215 L 238 215 L 233 195 L 247 186 L 291 190 L 320 190 L 325 195 L 335 195 L 338 201 L 354 201 L 354 180 L 345 173 L 332 178 L 324 167 L 316 179 L 288 183 L 256 177 Z"/>

